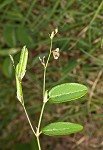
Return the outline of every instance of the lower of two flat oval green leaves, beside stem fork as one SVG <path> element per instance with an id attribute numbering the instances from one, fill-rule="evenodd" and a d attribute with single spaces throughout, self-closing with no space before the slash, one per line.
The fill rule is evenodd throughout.
<path id="1" fill-rule="evenodd" d="M 42 133 L 49 136 L 68 135 L 79 132 L 83 126 L 70 122 L 55 122 L 47 125 L 42 129 Z"/>

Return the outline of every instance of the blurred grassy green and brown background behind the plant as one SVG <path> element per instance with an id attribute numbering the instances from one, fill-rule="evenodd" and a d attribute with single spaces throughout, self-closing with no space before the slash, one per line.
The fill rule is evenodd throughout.
<path id="1" fill-rule="evenodd" d="M 47 104 L 43 124 L 80 123 L 84 130 L 65 137 L 41 136 L 43 150 L 103 150 L 103 1 L 0 0 L 0 150 L 37 150 L 36 140 L 16 98 L 11 54 L 17 63 L 21 48 L 29 49 L 23 92 L 35 126 L 42 104 L 43 68 L 51 33 L 60 58 L 47 71 L 47 89 L 65 82 L 85 84 L 89 92 L 78 101 Z"/>

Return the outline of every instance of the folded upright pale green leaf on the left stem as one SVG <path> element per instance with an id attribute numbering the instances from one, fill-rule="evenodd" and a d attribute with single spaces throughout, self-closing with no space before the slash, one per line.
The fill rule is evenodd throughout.
<path id="1" fill-rule="evenodd" d="M 25 75 L 27 60 L 28 60 L 28 50 L 27 50 L 26 46 L 24 46 L 22 48 L 22 52 L 21 52 L 21 55 L 20 55 L 20 61 L 16 66 L 16 75 L 18 76 L 18 78 L 20 80 L 22 80 L 22 78 Z"/>

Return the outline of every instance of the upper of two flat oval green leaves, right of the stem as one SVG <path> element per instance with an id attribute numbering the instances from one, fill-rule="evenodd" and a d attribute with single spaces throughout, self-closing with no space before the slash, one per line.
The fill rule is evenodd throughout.
<path id="1" fill-rule="evenodd" d="M 52 88 L 49 92 L 49 101 L 52 103 L 62 103 L 72 101 L 84 96 L 88 89 L 78 83 L 65 83 Z"/>

